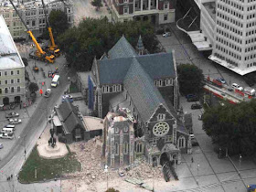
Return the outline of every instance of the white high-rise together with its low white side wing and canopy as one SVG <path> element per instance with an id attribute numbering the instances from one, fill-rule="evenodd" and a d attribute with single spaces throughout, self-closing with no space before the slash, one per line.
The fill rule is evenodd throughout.
<path id="1" fill-rule="evenodd" d="M 201 31 L 182 30 L 197 48 L 212 49 L 208 59 L 240 75 L 256 71 L 256 1 L 194 1 L 200 9 Z"/>

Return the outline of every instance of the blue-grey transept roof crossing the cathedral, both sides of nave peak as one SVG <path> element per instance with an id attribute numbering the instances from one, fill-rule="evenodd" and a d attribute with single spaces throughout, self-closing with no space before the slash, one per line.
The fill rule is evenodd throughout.
<path id="1" fill-rule="evenodd" d="M 132 58 L 101 59 L 98 60 L 100 85 L 123 84 L 123 79 L 133 63 L 133 58 L 141 64 L 151 79 L 175 78 L 176 76 L 172 53 L 156 53 Z"/>

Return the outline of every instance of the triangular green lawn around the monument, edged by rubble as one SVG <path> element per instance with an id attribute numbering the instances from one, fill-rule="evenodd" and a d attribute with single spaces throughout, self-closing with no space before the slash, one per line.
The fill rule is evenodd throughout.
<path id="1" fill-rule="evenodd" d="M 69 150 L 69 146 L 67 146 Z M 80 162 L 71 153 L 59 159 L 44 159 L 37 154 L 37 146 L 29 155 L 27 162 L 23 165 L 19 172 L 19 181 L 21 183 L 32 183 L 43 181 L 45 179 L 59 178 L 66 173 L 80 171 Z M 37 178 L 35 178 L 35 170 L 37 169 Z"/>

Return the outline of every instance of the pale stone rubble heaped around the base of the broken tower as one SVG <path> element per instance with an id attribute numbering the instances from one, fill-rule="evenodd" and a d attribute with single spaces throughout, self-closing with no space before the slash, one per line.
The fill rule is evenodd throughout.
<path id="1" fill-rule="evenodd" d="M 145 160 L 136 160 L 133 167 L 123 167 L 118 169 L 108 169 L 108 173 L 104 172 L 104 162 L 101 160 L 101 140 L 100 137 L 95 137 L 86 143 L 69 144 L 72 152 L 76 153 L 77 159 L 81 164 L 81 171 L 70 174 L 76 179 L 76 183 L 83 182 L 94 188 L 94 184 L 99 181 L 120 177 L 123 173 L 125 177 L 136 177 L 140 179 L 148 179 L 152 177 L 163 177 L 161 167 L 152 167 Z"/>

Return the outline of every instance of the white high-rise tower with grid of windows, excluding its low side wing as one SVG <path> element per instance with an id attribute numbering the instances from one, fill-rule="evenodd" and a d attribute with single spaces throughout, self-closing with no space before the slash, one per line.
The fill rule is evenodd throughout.
<path id="1" fill-rule="evenodd" d="M 215 44 L 210 59 L 244 75 L 256 70 L 256 1 L 216 2 Z"/>

